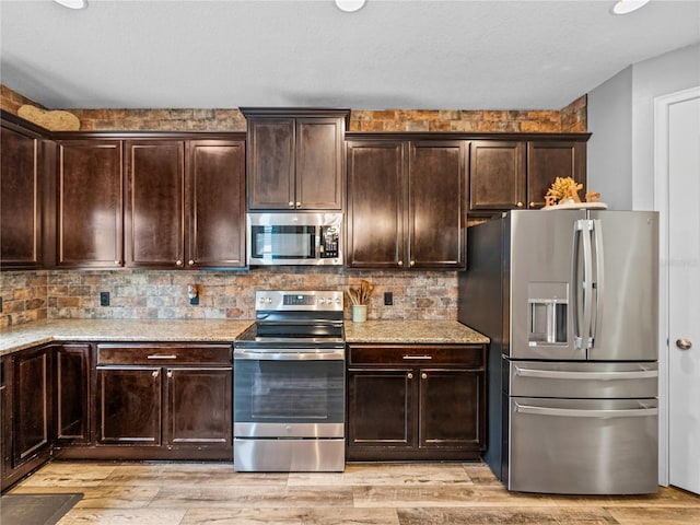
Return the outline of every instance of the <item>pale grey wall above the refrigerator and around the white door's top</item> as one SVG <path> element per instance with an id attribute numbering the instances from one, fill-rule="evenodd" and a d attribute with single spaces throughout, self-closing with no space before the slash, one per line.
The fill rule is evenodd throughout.
<path id="1" fill-rule="evenodd" d="M 654 209 L 654 97 L 700 85 L 700 44 L 637 62 L 588 93 L 588 187 L 611 209 Z"/>

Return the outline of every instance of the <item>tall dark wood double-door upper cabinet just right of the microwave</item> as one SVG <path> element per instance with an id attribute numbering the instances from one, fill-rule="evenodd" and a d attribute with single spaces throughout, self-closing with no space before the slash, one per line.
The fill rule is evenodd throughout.
<path id="1" fill-rule="evenodd" d="M 348 267 L 465 267 L 464 141 L 357 138 L 347 158 Z"/>

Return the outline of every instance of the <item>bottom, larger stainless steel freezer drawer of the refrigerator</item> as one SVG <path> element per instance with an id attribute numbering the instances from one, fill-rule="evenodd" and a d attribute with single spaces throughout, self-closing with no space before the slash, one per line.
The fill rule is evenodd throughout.
<path id="1" fill-rule="evenodd" d="M 509 490 L 658 490 L 656 399 L 510 398 Z"/>

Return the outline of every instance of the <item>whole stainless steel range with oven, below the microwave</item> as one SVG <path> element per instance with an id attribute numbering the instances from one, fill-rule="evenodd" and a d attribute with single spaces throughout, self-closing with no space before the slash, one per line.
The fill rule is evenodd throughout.
<path id="1" fill-rule="evenodd" d="M 234 343 L 234 469 L 345 469 L 343 295 L 256 292 Z"/>

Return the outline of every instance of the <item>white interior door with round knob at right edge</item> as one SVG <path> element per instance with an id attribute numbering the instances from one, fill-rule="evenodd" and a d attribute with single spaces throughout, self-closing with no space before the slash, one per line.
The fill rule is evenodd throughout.
<path id="1" fill-rule="evenodd" d="M 700 93 L 667 118 L 668 481 L 700 493 Z"/>

